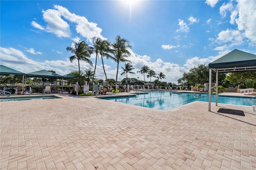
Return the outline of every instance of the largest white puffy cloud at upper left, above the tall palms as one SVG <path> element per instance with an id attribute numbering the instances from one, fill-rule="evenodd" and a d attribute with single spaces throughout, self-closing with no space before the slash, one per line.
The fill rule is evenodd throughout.
<path id="1" fill-rule="evenodd" d="M 100 34 L 101 28 L 98 28 L 96 23 L 89 22 L 85 17 L 78 16 L 68 11 L 63 6 L 54 5 L 54 9 L 43 10 L 43 19 L 47 23 L 46 28 L 35 21 L 31 22 L 34 28 L 44 30 L 46 32 L 54 33 L 56 36 L 62 38 L 70 38 L 70 25 L 68 22 L 75 24 L 76 32 L 82 37 L 90 40 L 93 36 L 103 38 Z M 64 19 L 62 19 L 64 18 Z M 68 22 L 67 22 L 68 21 Z"/>

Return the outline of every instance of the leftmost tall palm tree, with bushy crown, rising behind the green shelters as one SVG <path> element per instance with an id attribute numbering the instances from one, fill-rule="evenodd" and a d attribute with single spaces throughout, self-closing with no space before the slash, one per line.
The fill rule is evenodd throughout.
<path id="1" fill-rule="evenodd" d="M 93 52 L 93 47 L 89 46 L 87 43 L 84 41 L 79 41 L 74 44 L 73 47 L 66 47 L 67 51 L 70 51 L 74 55 L 69 57 L 70 62 L 72 63 L 75 59 L 78 60 L 78 71 L 80 71 L 80 60 L 85 61 L 92 65 L 92 61 L 88 59 L 88 57 L 91 56 Z"/>

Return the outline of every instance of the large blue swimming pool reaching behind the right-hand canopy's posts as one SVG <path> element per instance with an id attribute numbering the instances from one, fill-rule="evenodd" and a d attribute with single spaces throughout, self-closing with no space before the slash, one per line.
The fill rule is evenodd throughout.
<path id="1" fill-rule="evenodd" d="M 211 101 L 215 102 L 215 94 L 211 95 Z M 114 97 L 114 98 L 104 98 L 109 101 L 116 101 L 120 103 L 127 103 L 130 105 L 137 105 L 142 107 L 149 107 L 152 109 L 158 109 L 166 111 L 178 106 L 185 105 L 194 101 L 209 101 L 208 94 L 196 93 L 173 93 L 172 91 L 150 91 L 145 94 L 138 94 L 131 97 Z M 254 102 L 248 97 L 228 97 L 228 96 L 218 96 L 218 103 L 232 104 L 232 105 L 244 105 L 252 106 Z"/>

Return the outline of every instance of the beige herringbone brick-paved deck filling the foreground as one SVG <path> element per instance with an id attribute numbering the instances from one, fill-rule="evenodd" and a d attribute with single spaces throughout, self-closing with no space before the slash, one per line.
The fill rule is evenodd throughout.
<path id="1" fill-rule="evenodd" d="M 0 103 L 0 169 L 256 169 L 252 107 L 158 111 L 96 99 Z M 217 113 L 242 110 L 245 117 Z"/>

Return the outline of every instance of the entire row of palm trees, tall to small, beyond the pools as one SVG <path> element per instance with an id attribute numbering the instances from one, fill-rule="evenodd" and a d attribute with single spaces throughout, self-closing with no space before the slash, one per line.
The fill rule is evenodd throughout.
<path id="1" fill-rule="evenodd" d="M 116 36 L 115 42 L 110 43 L 108 40 L 103 40 L 99 37 L 93 37 L 92 38 L 92 46 L 88 45 L 84 41 L 79 41 L 74 43 L 74 46 L 68 46 L 66 47 L 67 51 L 70 51 L 74 55 L 70 56 L 70 62 L 72 63 L 75 59 L 78 61 L 78 71 L 72 71 L 72 79 L 76 78 L 78 79 L 78 84 L 81 87 L 81 83 L 84 81 L 89 82 L 92 80 L 92 83 L 97 80 L 96 77 L 96 65 L 98 59 L 101 59 L 102 61 L 102 68 L 106 77 L 106 83 L 108 84 L 108 77 L 106 74 L 106 70 L 104 67 L 104 58 L 105 59 L 112 59 L 117 63 L 117 71 L 116 71 L 116 80 L 118 79 L 118 69 L 121 62 L 124 62 L 125 65 L 122 68 L 121 75 L 126 74 L 126 83 L 128 83 L 128 73 L 135 74 L 133 72 L 133 69 L 135 69 L 132 66 L 132 62 L 128 60 L 128 57 L 130 56 L 129 49 L 131 49 L 132 46 L 129 44 L 129 41 L 125 38 L 121 38 L 120 36 Z M 93 66 L 92 61 L 90 60 L 91 55 L 95 53 L 96 59 L 95 59 L 95 65 L 94 65 L 94 71 L 92 69 L 86 69 L 85 72 L 80 70 L 80 61 L 85 61 L 89 65 Z M 137 71 L 138 73 L 141 73 L 144 75 L 144 85 L 146 83 L 145 81 L 145 74 L 148 78 L 156 77 L 157 79 L 160 79 L 160 82 L 162 82 L 162 79 L 165 79 L 164 73 L 160 72 L 159 74 L 156 74 L 154 70 L 149 69 L 148 66 L 143 66 L 140 71 Z M 72 81 L 72 80 L 70 80 Z M 116 83 L 116 89 L 117 89 L 117 83 Z"/>

